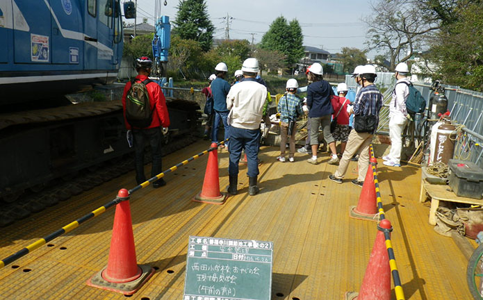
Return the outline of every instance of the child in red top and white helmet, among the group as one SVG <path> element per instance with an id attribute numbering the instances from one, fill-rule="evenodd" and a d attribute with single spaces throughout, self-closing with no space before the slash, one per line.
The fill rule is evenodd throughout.
<path id="1" fill-rule="evenodd" d="M 350 133 L 349 113 L 347 113 L 347 105 L 350 104 L 350 101 L 345 98 L 348 90 L 347 84 L 339 83 L 337 85 L 338 96 L 332 97 L 332 107 L 334 108 L 332 119 L 336 119 L 337 122 L 332 136 L 334 137 L 334 140 L 341 142 L 341 153 L 337 154 L 339 158 L 341 158 L 344 153 L 347 138 Z"/>

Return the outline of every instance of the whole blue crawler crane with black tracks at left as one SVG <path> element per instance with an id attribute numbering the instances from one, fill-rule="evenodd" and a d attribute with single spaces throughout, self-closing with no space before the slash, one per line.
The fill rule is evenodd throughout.
<path id="1" fill-rule="evenodd" d="M 169 18 L 156 27 L 154 75 L 163 85 Z M 123 42 L 120 0 L 0 0 L 0 226 L 131 168 L 120 99 L 65 97 L 113 83 Z M 199 106 L 187 102 L 167 99 L 171 137 L 191 139 L 178 146 L 199 126 Z M 113 162 L 123 163 L 105 172 Z"/>

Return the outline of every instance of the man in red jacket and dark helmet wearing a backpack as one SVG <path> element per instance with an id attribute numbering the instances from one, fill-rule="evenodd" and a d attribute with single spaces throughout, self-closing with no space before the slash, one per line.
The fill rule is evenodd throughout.
<path id="1" fill-rule="evenodd" d="M 170 116 L 167 113 L 166 99 L 159 85 L 153 81 L 146 83 L 149 80 L 148 76 L 151 73 L 152 60 L 146 56 L 142 56 L 136 60 L 136 71 L 138 76 L 136 76 L 133 82 L 145 82 L 147 94 L 149 97 L 149 106 L 152 111 L 152 122 L 149 126 L 145 128 L 138 128 L 136 126 L 131 126 L 126 119 L 126 95 L 131 89 L 133 82 L 129 81 L 124 87 L 124 94 L 122 94 L 122 108 L 124 111 L 124 122 L 126 124 L 126 129 L 132 131 L 133 133 L 133 144 L 134 144 L 134 165 L 136 167 L 136 182 L 138 184 L 146 181 L 145 170 L 144 170 L 144 157 L 145 157 L 145 141 L 149 141 L 152 151 L 152 169 L 151 177 L 154 177 L 161 172 L 161 138 L 163 137 L 162 128 L 167 128 L 170 126 Z M 154 181 L 153 188 L 159 188 L 166 185 L 163 178 Z"/>

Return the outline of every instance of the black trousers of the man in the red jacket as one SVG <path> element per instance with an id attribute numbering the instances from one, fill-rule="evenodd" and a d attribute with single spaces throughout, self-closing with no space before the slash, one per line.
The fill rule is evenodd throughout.
<path id="1" fill-rule="evenodd" d="M 153 165 L 151 169 L 151 177 L 163 172 L 161 163 L 161 127 L 133 129 L 133 146 L 134 146 L 134 167 L 136 169 L 136 182 L 138 184 L 146 181 L 145 176 L 145 145 L 146 141 L 151 146 L 151 154 Z"/>

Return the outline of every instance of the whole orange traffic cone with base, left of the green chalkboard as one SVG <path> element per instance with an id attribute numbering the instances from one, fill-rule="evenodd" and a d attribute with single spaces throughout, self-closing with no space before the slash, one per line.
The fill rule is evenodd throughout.
<path id="1" fill-rule="evenodd" d="M 120 203 L 116 206 L 107 267 L 92 276 L 87 284 L 129 295 L 137 292 L 151 278 L 154 269 L 136 263 L 129 192 L 120 190 L 117 199 Z"/>

